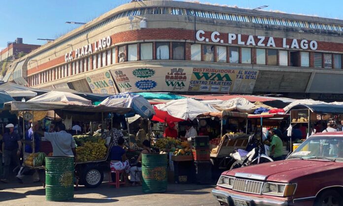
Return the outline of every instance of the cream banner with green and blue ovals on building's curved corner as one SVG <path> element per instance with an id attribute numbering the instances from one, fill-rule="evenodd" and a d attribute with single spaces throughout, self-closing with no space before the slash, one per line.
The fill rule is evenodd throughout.
<path id="1" fill-rule="evenodd" d="M 187 91 L 192 68 L 132 67 L 112 69 L 120 92 Z"/>

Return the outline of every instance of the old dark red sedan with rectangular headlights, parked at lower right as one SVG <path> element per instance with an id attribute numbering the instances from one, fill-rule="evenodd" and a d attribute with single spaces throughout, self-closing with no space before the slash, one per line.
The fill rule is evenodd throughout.
<path id="1" fill-rule="evenodd" d="M 309 137 L 284 161 L 223 172 L 226 206 L 343 206 L 343 132 Z"/>

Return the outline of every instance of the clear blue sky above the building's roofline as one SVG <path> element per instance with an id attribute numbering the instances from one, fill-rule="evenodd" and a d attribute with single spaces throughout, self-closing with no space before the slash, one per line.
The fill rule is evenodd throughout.
<path id="1" fill-rule="evenodd" d="M 89 22 L 131 0 L 1 0 L 0 49 L 8 41 L 22 37 L 24 43 L 45 44 L 37 38 L 55 39 L 79 25 L 66 21 Z M 190 0 L 188 0 L 190 1 Z M 198 0 L 202 3 L 256 8 L 266 11 L 343 19 L 343 0 Z"/>

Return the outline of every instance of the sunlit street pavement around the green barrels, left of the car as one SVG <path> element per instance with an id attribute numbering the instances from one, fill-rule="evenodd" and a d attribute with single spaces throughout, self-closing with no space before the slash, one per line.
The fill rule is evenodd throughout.
<path id="1" fill-rule="evenodd" d="M 0 182 L 1 206 L 91 206 L 94 204 L 115 206 L 218 206 L 211 195 L 213 185 L 168 184 L 166 193 L 146 194 L 141 186 L 115 188 L 103 182 L 98 188 L 80 186 L 74 192 L 74 200 L 46 202 L 42 183 L 15 181 Z"/>

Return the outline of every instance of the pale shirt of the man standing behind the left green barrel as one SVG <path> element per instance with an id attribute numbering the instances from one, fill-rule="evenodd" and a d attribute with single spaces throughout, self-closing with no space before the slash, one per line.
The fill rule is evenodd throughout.
<path id="1" fill-rule="evenodd" d="M 44 138 L 51 142 L 53 156 L 74 156 L 71 148 L 75 148 L 74 138 L 66 131 L 58 133 L 44 132 Z"/>

